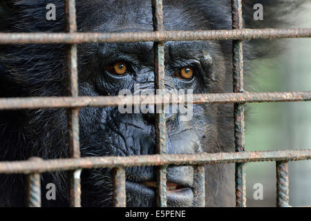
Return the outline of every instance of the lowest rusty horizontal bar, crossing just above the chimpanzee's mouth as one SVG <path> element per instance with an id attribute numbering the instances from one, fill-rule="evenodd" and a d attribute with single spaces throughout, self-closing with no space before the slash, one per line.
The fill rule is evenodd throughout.
<path id="1" fill-rule="evenodd" d="M 75 169 L 115 168 L 131 166 L 203 165 L 236 162 L 311 160 L 311 149 L 256 151 L 237 153 L 196 153 L 133 155 L 126 157 L 82 157 L 78 159 L 42 160 L 41 162 L 0 162 L 0 173 L 44 173 Z"/>

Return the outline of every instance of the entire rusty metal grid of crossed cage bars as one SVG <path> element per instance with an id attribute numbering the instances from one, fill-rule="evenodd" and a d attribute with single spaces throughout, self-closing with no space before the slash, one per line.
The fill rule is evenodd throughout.
<path id="1" fill-rule="evenodd" d="M 243 29 L 241 0 L 232 0 L 232 30 L 165 31 L 163 26 L 162 0 L 151 0 L 153 8 L 153 32 L 127 33 L 77 33 L 75 0 L 66 1 L 66 26 L 68 33 L 0 33 L 0 44 L 68 44 L 67 79 L 70 97 L 28 97 L 0 99 L 0 110 L 21 108 L 68 108 L 68 159 L 28 160 L 23 162 L 0 162 L 0 173 L 28 174 L 28 204 L 41 206 L 40 173 L 70 171 L 70 206 L 80 204 L 80 173 L 82 169 L 113 169 L 113 206 L 126 206 L 126 174 L 124 167 L 159 166 L 158 206 L 167 206 L 166 169 L 168 165 L 194 165 L 194 195 L 198 206 L 205 206 L 205 164 L 236 163 L 236 206 L 245 206 L 245 162 L 276 161 L 277 206 L 288 204 L 288 164 L 290 160 L 311 160 L 311 150 L 245 152 L 244 113 L 246 102 L 298 102 L 310 101 L 311 92 L 247 93 L 243 91 L 243 39 L 311 37 L 311 28 Z M 194 95 L 194 104 L 234 103 L 234 137 L 236 153 L 196 153 L 169 155 L 166 153 L 165 115 L 156 114 L 156 146 L 158 155 L 126 157 L 80 157 L 79 108 L 85 106 L 137 105 L 131 97 L 78 97 L 77 44 L 93 42 L 154 41 L 155 88 L 164 88 L 164 42 L 225 40 L 233 41 L 234 93 Z M 157 99 L 162 95 L 140 96 L 138 104 L 165 105 L 185 104 L 178 99 Z M 171 95 L 175 96 L 175 95 Z M 156 98 L 156 99 L 152 99 Z M 151 101 L 155 102 L 151 102 Z M 160 101 L 160 102 L 158 102 Z"/>

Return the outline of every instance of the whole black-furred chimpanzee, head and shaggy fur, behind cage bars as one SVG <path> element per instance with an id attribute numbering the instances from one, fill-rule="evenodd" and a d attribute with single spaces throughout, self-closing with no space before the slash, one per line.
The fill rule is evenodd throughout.
<path id="1" fill-rule="evenodd" d="M 230 2 L 164 1 L 164 29 L 230 29 Z M 64 1 L 55 1 L 56 21 L 45 20 L 47 3 L 50 1 L 8 1 L 13 13 L 10 19 L 3 17 L 1 30 L 64 32 Z M 77 0 L 76 6 L 79 32 L 153 30 L 149 1 Z M 245 48 L 247 55 L 249 48 Z M 164 51 L 167 93 L 176 94 L 179 89 L 192 89 L 194 94 L 232 92 L 232 41 L 167 41 Z M 65 96 L 65 60 L 64 45 L 2 46 L 0 96 Z M 133 93 L 134 84 L 140 84 L 140 92 L 154 90 L 153 67 L 153 42 L 81 44 L 78 46 L 79 96 L 118 95 L 122 89 Z M 193 73 L 189 79 L 185 73 L 180 75 L 186 69 Z M 181 121 L 180 113 L 166 115 L 167 153 L 234 151 L 233 105 L 206 104 L 193 108 L 189 121 Z M 122 114 L 117 107 L 82 108 L 79 111 L 81 155 L 155 154 L 154 122 L 152 113 Z M 0 111 L 0 160 L 68 157 L 66 133 L 64 109 Z M 205 171 L 207 206 L 233 206 L 232 165 L 207 165 Z M 169 166 L 168 206 L 196 206 L 195 176 L 193 166 Z M 155 206 L 154 181 L 153 166 L 126 168 L 126 205 Z M 25 206 L 24 182 L 23 175 L 0 175 L 0 206 Z M 68 206 L 67 173 L 44 173 L 41 182 L 43 195 L 46 184 L 52 182 L 57 186 L 57 200 L 42 198 L 43 206 Z M 111 206 L 111 198 L 109 169 L 82 171 L 82 206 Z"/>

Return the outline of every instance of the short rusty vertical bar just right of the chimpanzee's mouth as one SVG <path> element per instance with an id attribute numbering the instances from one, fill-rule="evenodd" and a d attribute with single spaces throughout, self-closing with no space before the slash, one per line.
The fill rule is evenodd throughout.
<path id="1" fill-rule="evenodd" d="M 194 167 L 194 196 L 197 207 L 205 207 L 205 166 Z"/>

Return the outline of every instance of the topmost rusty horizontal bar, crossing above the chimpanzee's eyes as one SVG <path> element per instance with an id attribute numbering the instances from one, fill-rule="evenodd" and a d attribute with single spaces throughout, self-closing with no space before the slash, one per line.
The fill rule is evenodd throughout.
<path id="1" fill-rule="evenodd" d="M 0 44 L 82 44 L 135 41 L 203 41 L 311 37 L 311 28 L 199 30 L 122 33 L 0 33 Z"/>

